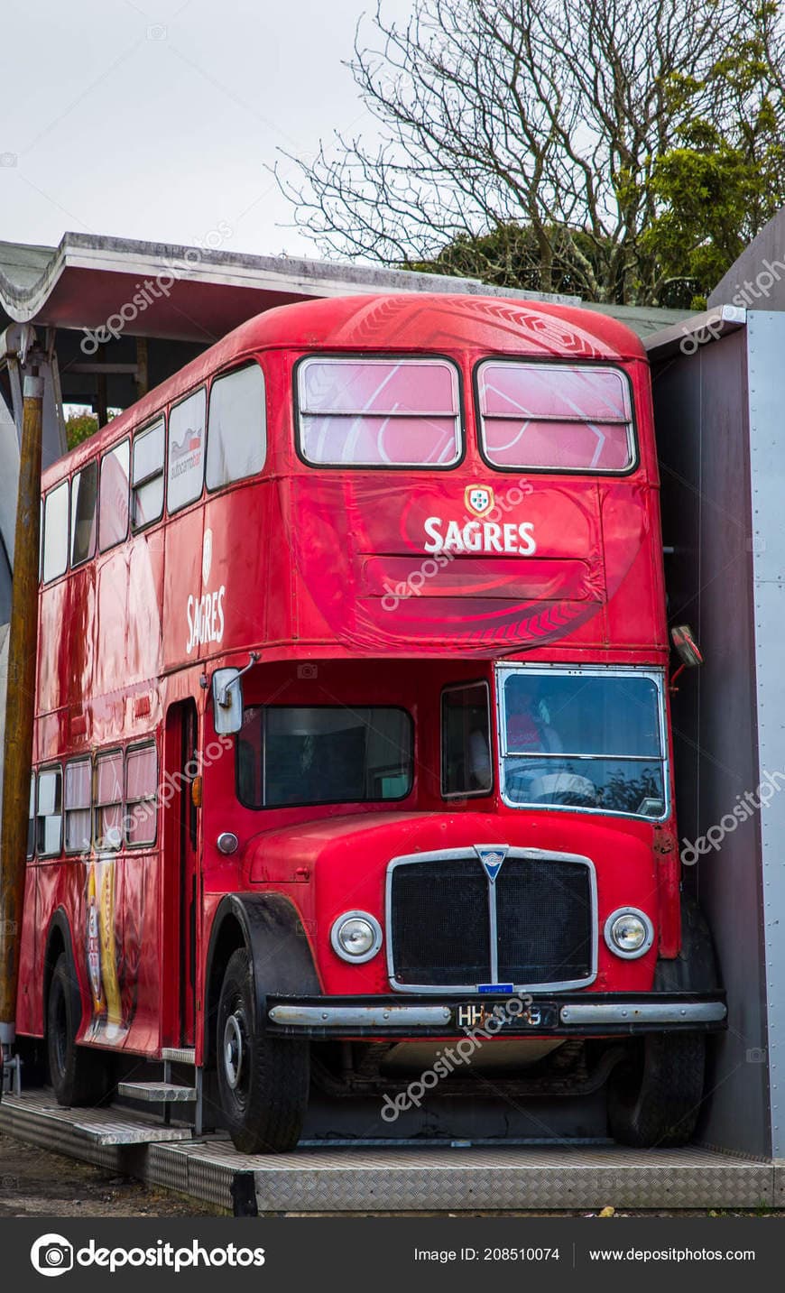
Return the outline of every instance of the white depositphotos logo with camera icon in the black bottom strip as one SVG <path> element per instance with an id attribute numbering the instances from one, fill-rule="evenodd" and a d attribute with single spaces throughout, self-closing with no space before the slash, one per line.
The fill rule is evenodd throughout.
<path id="1" fill-rule="evenodd" d="M 41 1235 L 30 1249 L 30 1261 L 39 1275 L 65 1275 L 74 1266 L 98 1266 L 110 1275 L 124 1266 L 154 1266 L 180 1275 L 180 1271 L 197 1266 L 264 1266 L 264 1248 L 238 1248 L 237 1244 L 204 1248 L 197 1239 L 182 1248 L 163 1239 L 149 1248 L 100 1248 L 91 1239 L 84 1248 L 74 1250 L 74 1245 L 62 1235 Z"/>

